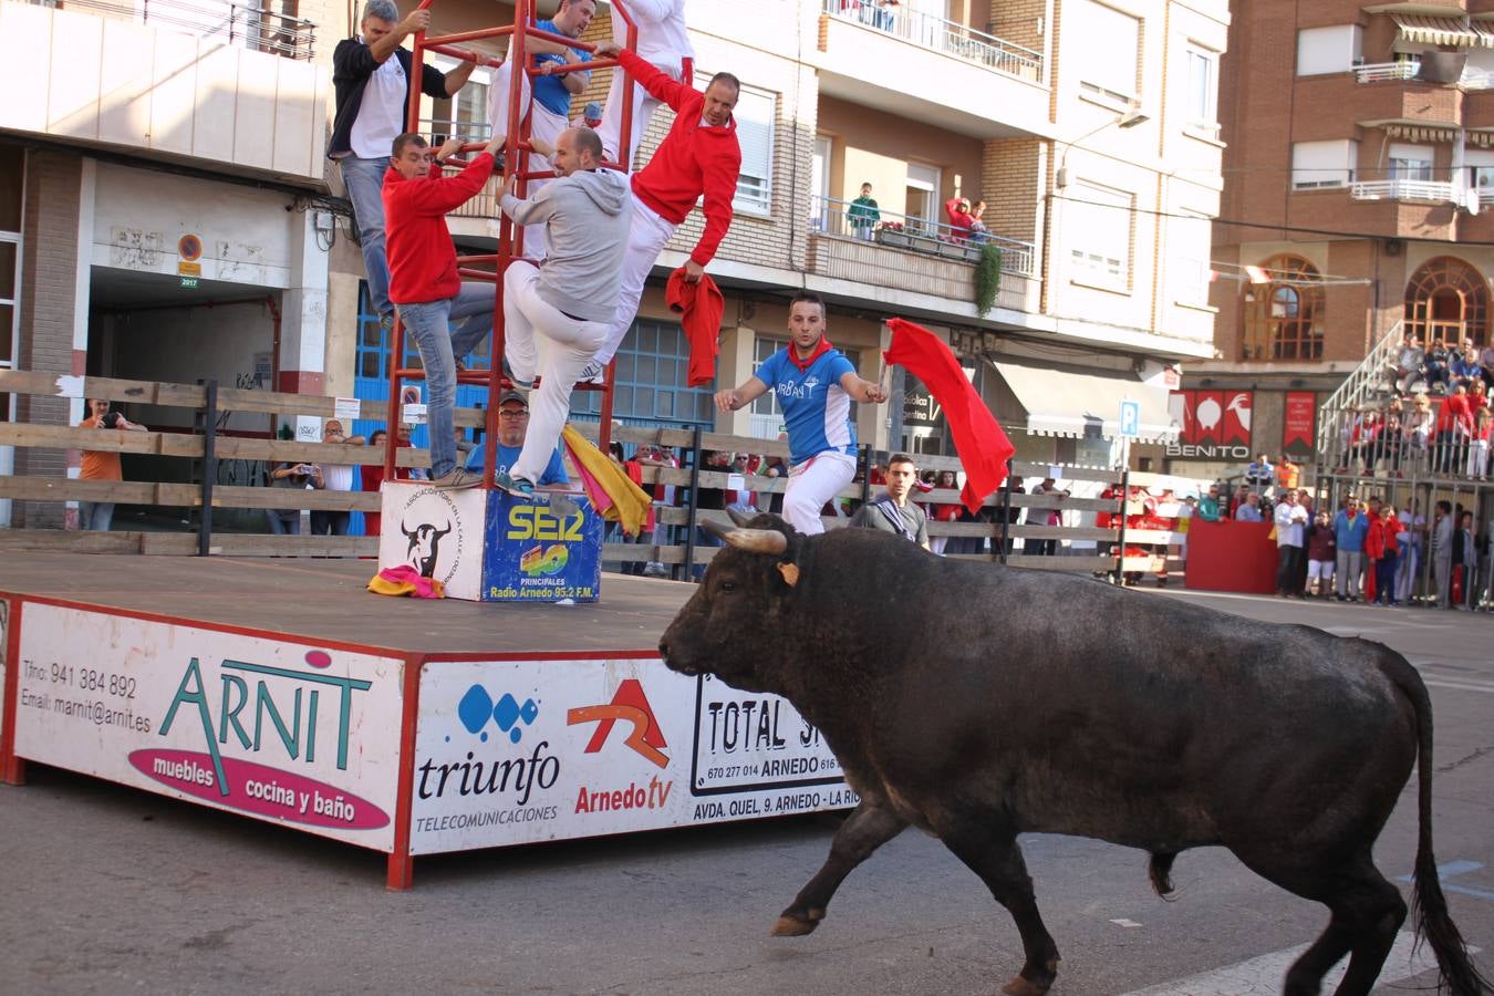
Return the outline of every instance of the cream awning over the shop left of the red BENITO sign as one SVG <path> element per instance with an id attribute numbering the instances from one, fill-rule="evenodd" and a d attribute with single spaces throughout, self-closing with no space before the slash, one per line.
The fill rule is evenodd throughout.
<path id="1" fill-rule="evenodd" d="M 992 363 L 1026 409 L 1026 430 L 1038 436 L 1082 439 L 1088 432 L 1120 435 L 1120 402 L 1141 406 L 1140 442 L 1171 442 L 1177 424 L 1167 411 L 1167 393 L 1134 376 L 1079 373 L 1025 363 Z"/>

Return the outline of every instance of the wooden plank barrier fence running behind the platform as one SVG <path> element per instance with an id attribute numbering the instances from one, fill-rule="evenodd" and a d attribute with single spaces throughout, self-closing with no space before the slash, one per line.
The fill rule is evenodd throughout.
<path id="1" fill-rule="evenodd" d="M 124 405 L 157 405 L 193 411 L 197 424 L 205 429 L 194 432 L 100 432 L 70 426 L 39 426 L 25 423 L 0 423 L 0 446 L 63 451 L 103 451 L 123 454 L 151 454 L 196 461 L 191 482 L 143 482 L 143 481 L 84 481 L 61 476 L 9 476 L 0 478 L 0 499 L 18 502 L 115 502 L 118 505 L 164 506 L 194 511 L 202 520 L 197 533 L 187 532 L 79 532 L 57 529 L 9 529 L 0 530 L 0 548 L 9 550 L 69 550 L 81 553 L 140 553 L 140 554 L 221 554 L 221 555 L 314 555 L 314 557 L 374 557 L 378 553 L 376 536 L 276 536 L 266 533 L 226 532 L 212 529 L 211 512 L 203 509 L 297 509 L 297 511 L 360 511 L 376 512 L 379 497 L 366 491 L 294 490 L 254 485 L 224 485 L 215 481 L 214 461 L 247 460 L 276 463 L 323 463 L 323 464 L 382 464 L 384 446 L 348 443 L 311 443 L 281 439 L 226 436 L 215 432 L 215 418 L 209 414 L 249 412 L 266 415 L 311 415 L 332 418 L 333 397 L 311 394 L 284 394 L 275 391 L 224 390 L 214 385 L 158 384 L 149 381 L 121 381 L 109 378 L 58 376 L 54 373 L 27 370 L 0 370 L 0 394 L 51 396 L 67 399 L 108 397 Z M 215 397 L 214 397 L 215 394 Z M 211 409 L 215 408 L 217 412 Z M 385 402 L 362 402 L 360 418 L 382 420 L 387 417 Z M 462 427 L 481 426 L 484 412 L 477 408 L 457 409 L 456 424 Z M 577 429 L 596 439 L 595 423 L 577 423 Z M 751 452 L 765 457 L 787 457 L 787 448 L 780 441 L 756 439 L 705 433 L 687 429 L 648 429 L 636 426 L 614 426 L 613 439 L 638 446 L 668 446 L 681 454 L 681 467 L 659 464 L 644 466 L 644 487 L 674 485 L 687 499 L 677 506 L 656 502 L 659 529 L 653 542 L 608 542 L 604 560 L 608 563 L 660 563 L 684 576 L 693 564 L 704 564 L 716 553 L 716 547 L 702 545 L 702 533 L 695 527 L 704 520 L 729 521 L 726 512 L 701 509 L 698 496 L 702 490 L 731 490 L 732 478 L 746 476 L 746 490 L 756 493 L 759 508 L 766 508 L 769 496 L 781 494 L 786 478 L 765 475 L 738 475 L 735 472 L 704 469 L 704 454 L 710 451 Z M 862 470 L 871 458 L 862 448 Z M 400 448 L 396 454 L 400 467 L 429 467 L 429 452 Z M 884 454 L 878 454 L 884 458 Z M 952 457 L 920 455 L 920 470 L 961 470 Z M 1013 473 L 1028 481 L 1049 476 L 1050 464 L 1014 463 Z M 1150 484 L 1158 475 L 1129 473 L 1091 467 L 1059 467 L 1065 482 L 1088 482 L 1094 490 L 1107 485 Z M 837 496 L 859 502 L 871 494 L 865 473 Z M 959 491 L 937 488 L 920 493 L 917 502 L 925 506 L 959 503 Z M 1020 567 L 1068 572 L 1115 572 L 1119 542 L 1126 547 L 1156 544 L 1165 547 L 1176 542 L 1167 532 L 1120 530 L 1100 526 L 1046 526 L 1008 523 L 1002 526 L 1005 511 L 1061 509 L 1064 512 L 1110 514 L 1119 521 L 1119 502 L 1098 497 L 1059 497 L 1023 494 L 1002 488 L 986 500 L 988 514 L 998 521 L 958 523 L 937 521 L 931 517 L 931 538 L 979 538 L 989 539 L 992 553 L 950 554 L 976 560 L 1004 560 Z M 1088 518 L 1088 517 L 1086 517 Z M 826 517 L 826 527 L 847 523 L 843 517 Z M 1005 538 L 1011 553 L 1001 557 Z M 648 538 L 644 538 L 645 541 Z M 1062 555 L 1035 555 L 1023 553 L 1026 541 L 1059 541 Z M 1091 554 L 1079 550 L 1092 550 Z M 1161 561 L 1155 557 L 1128 557 L 1125 570 L 1156 570 Z"/>

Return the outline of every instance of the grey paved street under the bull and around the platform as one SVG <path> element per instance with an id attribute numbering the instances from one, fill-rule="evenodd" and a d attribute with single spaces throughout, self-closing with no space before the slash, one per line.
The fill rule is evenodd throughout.
<path id="1" fill-rule="evenodd" d="M 1422 669 L 1437 857 L 1494 975 L 1494 618 L 1140 597 L 1380 639 Z M 30 779 L 0 785 L 7 993 L 991 993 L 1020 965 L 1007 914 L 916 833 L 858 869 L 814 935 L 769 938 L 832 817 L 424 859 L 415 888 L 390 893 L 372 853 L 40 766 Z M 1413 802 L 1403 793 L 1376 853 L 1391 878 L 1410 871 Z M 1183 854 L 1164 902 L 1141 853 L 1056 836 L 1025 848 L 1064 953 L 1056 996 L 1274 993 L 1325 921 L 1219 850 Z M 1431 987 L 1407 947 L 1377 993 Z"/>

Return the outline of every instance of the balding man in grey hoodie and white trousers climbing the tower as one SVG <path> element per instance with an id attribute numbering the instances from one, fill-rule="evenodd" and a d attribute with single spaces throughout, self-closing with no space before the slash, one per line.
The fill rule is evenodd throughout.
<path id="1" fill-rule="evenodd" d="M 602 169 L 602 140 L 590 128 L 569 128 L 554 149 L 530 137 L 541 155 L 548 155 L 556 181 L 520 200 L 514 179 L 499 202 L 517 224 L 544 224 L 550 254 L 542 267 L 515 260 L 503 273 L 503 352 L 509 375 L 518 385 L 539 387 L 529 399 L 529 433 L 518 460 L 499 473 L 498 487 L 529 497 L 535 481 L 550 463 L 550 454 L 571 411 L 571 388 L 586 364 L 607 342 L 617 312 L 623 252 L 632 196 L 627 178 Z M 535 333 L 550 339 L 544 369 Z"/>

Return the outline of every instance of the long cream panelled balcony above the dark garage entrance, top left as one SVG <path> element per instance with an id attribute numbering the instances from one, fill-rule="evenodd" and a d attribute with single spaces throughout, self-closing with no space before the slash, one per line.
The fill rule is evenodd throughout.
<path id="1" fill-rule="evenodd" d="M 318 185 L 330 75 L 288 0 L 0 0 L 0 128 Z M 67 72 L 58 72 L 66 66 Z"/>

